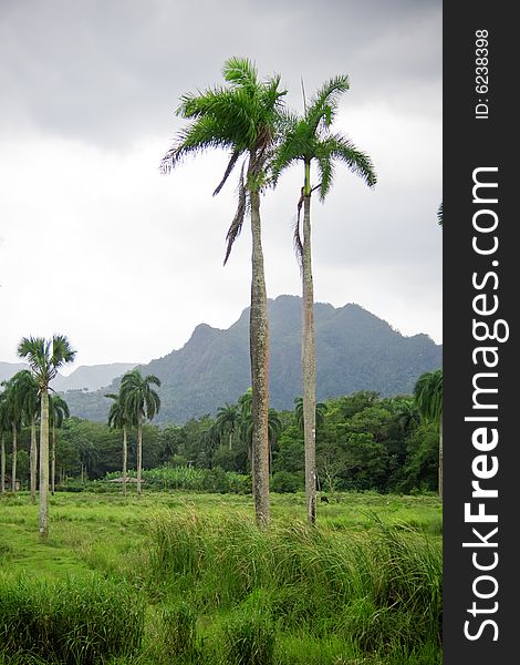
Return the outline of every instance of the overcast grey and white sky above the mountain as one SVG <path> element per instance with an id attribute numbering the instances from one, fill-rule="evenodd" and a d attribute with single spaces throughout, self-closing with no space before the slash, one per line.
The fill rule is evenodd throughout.
<path id="1" fill-rule="evenodd" d="M 158 171 L 179 95 L 220 83 L 230 55 L 280 73 L 299 111 L 302 79 L 310 95 L 349 74 L 336 129 L 378 183 L 339 166 L 313 201 L 315 299 L 441 342 L 440 0 L 0 0 L 0 360 L 60 332 L 71 369 L 148 362 L 249 305 L 249 225 L 222 266 L 227 155 Z M 301 180 L 262 198 L 270 298 L 301 293 Z"/>

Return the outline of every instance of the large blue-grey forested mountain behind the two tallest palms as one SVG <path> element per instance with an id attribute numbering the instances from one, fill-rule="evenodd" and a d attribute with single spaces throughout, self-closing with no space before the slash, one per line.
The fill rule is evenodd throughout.
<path id="1" fill-rule="evenodd" d="M 294 398 L 301 395 L 301 298 L 280 296 L 269 300 L 268 307 L 270 401 L 277 409 L 292 409 Z M 443 347 L 427 335 L 404 337 L 358 305 L 335 308 L 318 303 L 314 311 L 319 400 L 357 390 L 376 390 L 382 396 L 410 393 L 423 372 L 441 367 Z M 200 324 L 181 349 L 139 369 L 162 381 L 162 406 L 154 422 L 184 423 L 236 402 L 251 382 L 249 308 L 226 330 Z M 117 390 L 118 380 L 110 391 Z M 107 391 L 69 391 L 65 399 L 73 415 L 106 420 Z"/>

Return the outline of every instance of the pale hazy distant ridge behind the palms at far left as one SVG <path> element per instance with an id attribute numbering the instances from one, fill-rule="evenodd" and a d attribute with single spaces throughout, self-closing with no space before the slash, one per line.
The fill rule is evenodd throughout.
<path id="1" fill-rule="evenodd" d="M 121 377 L 136 366 L 136 362 L 112 362 L 110 365 L 82 365 L 67 377 L 58 374 L 52 381 L 54 390 L 64 392 L 66 390 L 94 391 L 110 386 L 112 381 Z M 0 362 L 0 381 L 13 377 L 18 371 L 29 369 L 25 362 Z"/>

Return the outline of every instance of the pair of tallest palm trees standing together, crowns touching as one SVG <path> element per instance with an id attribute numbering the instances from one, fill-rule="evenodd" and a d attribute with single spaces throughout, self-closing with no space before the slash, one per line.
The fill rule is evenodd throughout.
<path id="1" fill-rule="evenodd" d="M 163 172 L 176 167 L 184 157 L 209 149 L 229 151 L 229 163 L 214 194 L 218 194 L 233 167 L 243 161 L 238 178 L 238 205 L 227 234 L 225 264 L 233 242 L 249 213 L 252 237 L 250 360 L 252 413 L 252 480 L 257 521 L 267 524 L 269 505 L 269 321 L 261 244 L 260 195 L 274 186 L 282 171 L 303 163 L 304 178 L 298 204 L 295 245 L 302 273 L 302 382 L 305 441 L 305 489 L 308 519 L 315 521 L 315 342 L 313 323 L 313 283 L 311 267 L 311 194 L 329 193 L 334 162 L 340 161 L 360 175 L 368 186 L 376 176 L 367 155 L 349 139 L 331 131 L 339 96 L 349 89 L 346 76 L 336 76 L 323 85 L 302 116 L 285 112 L 279 89 L 280 75 L 260 81 L 248 60 L 230 58 L 223 65 L 227 85 L 180 98 L 177 115 L 190 120 L 162 161 Z M 311 183 L 315 162 L 320 183 Z M 300 209 L 303 205 L 303 241 L 300 236 Z"/>

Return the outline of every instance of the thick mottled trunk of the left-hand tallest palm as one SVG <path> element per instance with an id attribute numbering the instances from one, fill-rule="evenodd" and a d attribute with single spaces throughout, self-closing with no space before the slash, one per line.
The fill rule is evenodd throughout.
<path id="1" fill-rule="evenodd" d="M 257 522 L 270 520 L 269 507 L 269 324 L 260 225 L 260 194 L 251 192 L 252 277 L 249 345 L 252 387 L 252 481 Z"/>

